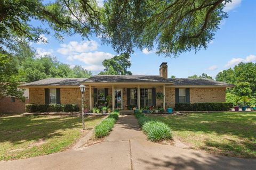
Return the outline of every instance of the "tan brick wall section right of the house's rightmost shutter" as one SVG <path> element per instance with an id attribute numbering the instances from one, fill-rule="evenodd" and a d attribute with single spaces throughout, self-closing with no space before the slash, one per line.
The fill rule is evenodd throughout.
<path id="1" fill-rule="evenodd" d="M 190 103 L 225 101 L 226 88 L 190 88 Z"/>

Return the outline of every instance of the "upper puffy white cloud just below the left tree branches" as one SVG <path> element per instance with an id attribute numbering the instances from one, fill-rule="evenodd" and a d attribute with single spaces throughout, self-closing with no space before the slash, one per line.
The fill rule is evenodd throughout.
<path id="1" fill-rule="evenodd" d="M 63 55 L 74 55 L 78 53 L 91 52 L 98 49 L 98 43 L 94 40 L 82 41 L 70 41 L 68 44 L 61 44 L 61 48 L 57 50 L 58 53 Z"/>

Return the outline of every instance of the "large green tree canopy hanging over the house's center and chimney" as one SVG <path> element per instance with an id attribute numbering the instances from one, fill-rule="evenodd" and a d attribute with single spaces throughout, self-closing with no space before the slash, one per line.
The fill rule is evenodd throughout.
<path id="1" fill-rule="evenodd" d="M 227 18 L 223 7 L 231 0 L 118 1 L 105 2 L 102 15 L 103 42 L 116 52 L 133 52 L 133 47 L 157 54 L 178 56 L 206 48 Z"/>

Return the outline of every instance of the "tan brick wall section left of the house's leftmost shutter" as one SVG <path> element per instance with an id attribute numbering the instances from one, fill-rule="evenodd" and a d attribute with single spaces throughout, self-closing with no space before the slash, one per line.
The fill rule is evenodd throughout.
<path id="1" fill-rule="evenodd" d="M 45 104 L 45 94 L 43 88 L 29 88 L 29 103 Z"/>

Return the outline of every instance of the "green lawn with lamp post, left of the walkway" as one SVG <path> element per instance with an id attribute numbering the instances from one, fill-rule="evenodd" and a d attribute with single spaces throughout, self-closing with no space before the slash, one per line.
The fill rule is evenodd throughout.
<path id="1" fill-rule="evenodd" d="M 103 117 L 86 117 L 93 128 Z M 0 116 L 0 160 L 20 159 L 63 151 L 87 131 L 81 117 Z"/>

